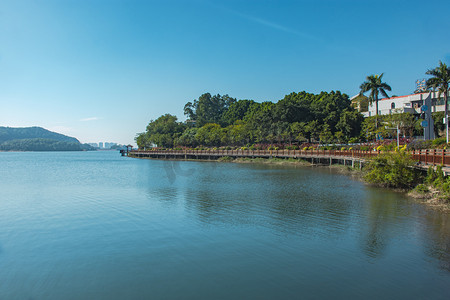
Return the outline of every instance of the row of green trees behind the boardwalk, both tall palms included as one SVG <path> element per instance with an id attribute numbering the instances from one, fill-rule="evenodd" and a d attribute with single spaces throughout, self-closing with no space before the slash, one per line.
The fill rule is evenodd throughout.
<path id="1" fill-rule="evenodd" d="M 433 115 L 434 129 L 439 135 L 444 128 L 448 132 L 448 122 L 444 125 L 440 120 L 448 116 L 450 68 L 439 62 L 438 67 L 426 74 L 432 76 L 427 80 L 427 89 L 438 90 L 439 96 L 444 95 L 444 112 Z M 379 126 L 380 122 L 387 127 L 399 125 L 404 136 L 421 135 L 421 120 L 413 114 L 378 116 L 379 94 L 388 97 L 387 91 L 391 91 L 382 78 L 383 74 L 367 76 L 360 86 L 360 96 L 369 92 L 366 99 L 375 103 L 376 113 L 371 118 L 364 119 L 351 106 L 348 95 L 340 91 L 319 94 L 303 91 L 286 95 L 277 102 L 262 103 L 205 93 L 184 106 L 186 122 L 165 114 L 151 120 L 146 131 L 139 133 L 135 140 L 139 148 L 173 148 L 364 142 L 395 135 L 385 130 L 386 126 Z"/>

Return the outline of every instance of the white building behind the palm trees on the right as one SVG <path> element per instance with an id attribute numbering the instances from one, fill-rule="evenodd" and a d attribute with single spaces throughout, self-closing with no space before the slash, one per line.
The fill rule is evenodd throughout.
<path id="1" fill-rule="evenodd" d="M 425 92 L 406 96 L 384 98 L 378 100 L 378 115 L 389 115 L 395 113 L 417 113 L 424 104 L 424 100 L 431 93 L 431 112 L 444 111 L 444 95 L 438 99 L 438 92 Z M 362 112 L 364 117 L 375 116 L 375 102 L 369 104 L 369 111 Z"/>

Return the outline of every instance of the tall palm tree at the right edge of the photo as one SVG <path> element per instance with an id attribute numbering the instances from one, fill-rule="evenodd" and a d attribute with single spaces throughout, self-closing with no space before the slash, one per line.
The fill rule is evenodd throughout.
<path id="1" fill-rule="evenodd" d="M 432 88 L 433 90 L 439 91 L 439 97 L 444 93 L 444 113 L 445 113 L 445 135 L 448 143 L 448 104 L 447 97 L 449 91 L 450 83 L 450 68 L 446 64 L 439 61 L 439 67 L 428 70 L 425 74 L 431 75 L 433 77 L 427 80 L 427 88 Z"/>

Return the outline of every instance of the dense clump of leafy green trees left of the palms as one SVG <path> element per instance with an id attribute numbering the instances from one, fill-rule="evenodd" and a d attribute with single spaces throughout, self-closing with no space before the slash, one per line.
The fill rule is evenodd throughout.
<path id="1" fill-rule="evenodd" d="M 359 137 L 363 116 L 341 92 L 291 93 L 274 102 L 201 95 L 184 106 L 187 121 L 166 114 L 136 137 L 140 148 L 244 146 L 254 143 L 346 142 Z"/>

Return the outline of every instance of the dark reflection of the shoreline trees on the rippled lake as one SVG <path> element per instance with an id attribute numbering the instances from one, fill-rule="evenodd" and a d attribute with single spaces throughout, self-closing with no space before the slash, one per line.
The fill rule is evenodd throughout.
<path id="1" fill-rule="evenodd" d="M 411 234 L 405 227 L 420 217 L 426 222 L 419 225 L 421 230 L 432 239 L 427 254 L 437 258 L 442 268 L 449 268 L 449 215 L 413 203 L 402 194 L 370 187 L 361 190 L 360 182 L 327 169 L 216 162 L 162 164 L 167 181 L 155 186 L 149 178 L 149 189 L 160 199 L 168 195 L 183 198 L 186 210 L 201 222 L 268 226 L 282 233 L 334 239 L 356 230 L 363 253 L 376 259 L 386 254 L 391 240 Z M 355 229 L 355 224 L 361 227 Z"/>

